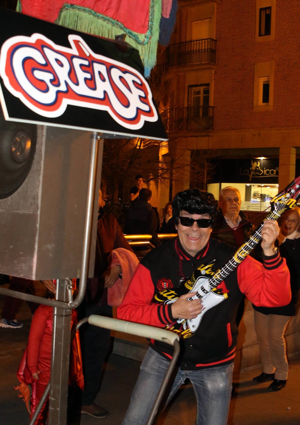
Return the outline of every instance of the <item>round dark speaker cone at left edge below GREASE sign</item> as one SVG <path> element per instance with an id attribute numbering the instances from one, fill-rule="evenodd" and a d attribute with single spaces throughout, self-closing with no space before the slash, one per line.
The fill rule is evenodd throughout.
<path id="1" fill-rule="evenodd" d="M 5 121 L 0 108 L 0 199 L 12 195 L 31 169 L 37 126 Z"/>

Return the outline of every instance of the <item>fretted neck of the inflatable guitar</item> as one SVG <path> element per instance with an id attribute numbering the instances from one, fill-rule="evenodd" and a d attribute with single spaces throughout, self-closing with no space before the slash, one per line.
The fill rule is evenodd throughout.
<path id="1" fill-rule="evenodd" d="M 277 220 L 280 217 L 275 211 L 270 212 L 266 220 Z M 255 246 L 261 241 L 261 229 L 263 228 L 263 222 L 260 224 L 259 228 L 255 230 L 253 235 L 250 236 L 248 241 L 246 241 L 240 248 L 233 254 L 232 258 L 224 264 L 221 269 L 217 270 L 215 274 L 209 278 L 209 288 L 210 290 L 216 288 L 222 280 L 224 280 L 234 269 L 238 267 L 239 264 L 250 254 L 250 252 L 255 248 Z"/>

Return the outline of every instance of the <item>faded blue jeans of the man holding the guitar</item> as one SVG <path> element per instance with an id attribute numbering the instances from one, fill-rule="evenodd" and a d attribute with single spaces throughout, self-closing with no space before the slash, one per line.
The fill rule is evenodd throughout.
<path id="1" fill-rule="evenodd" d="M 169 363 L 155 350 L 148 349 L 122 425 L 147 423 Z M 196 425 L 226 425 L 232 390 L 232 372 L 233 363 L 195 371 L 179 368 L 167 403 L 181 384 L 189 378 L 197 400 Z"/>

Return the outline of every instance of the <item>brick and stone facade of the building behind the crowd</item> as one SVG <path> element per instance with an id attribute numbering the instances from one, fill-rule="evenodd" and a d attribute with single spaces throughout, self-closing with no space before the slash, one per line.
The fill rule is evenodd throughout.
<path id="1" fill-rule="evenodd" d="M 172 88 L 170 78 L 170 92 L 180 96 L 177 107 L 187 106 L 189 85 L 204 81 L 210 83 L 209 103 L 214 106 L 212 133 L 208 137 L 180 135 L 176 152 L 231 148 L 242 155 L 241 150 L 251 148 L 255 155 L 255 149 L 280 148 L 281 190 L 294 178 L 295 148 L 300 147 L 300 3 L 292 0 L 289 10 L 284 0 L 187 1 L 180 5 L 181 41 L 190 39 L 193 21 L 211 16 L 217 53 L 216 70 L 213 66 L 173 70 L 181 81 Z M 272 6 L 271 35 L 258 37 L 259 8 L 266 6 Z M 270 102 L 257 106 L 257 80 L 264 73 L 270 74 Z M 175 179 L 173 193 L 182 187 L 184 183 Z"/>

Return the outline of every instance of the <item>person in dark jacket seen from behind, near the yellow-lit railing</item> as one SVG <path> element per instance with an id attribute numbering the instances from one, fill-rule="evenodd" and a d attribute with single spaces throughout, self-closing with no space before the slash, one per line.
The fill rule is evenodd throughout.
<path id="1" fill-rule="evenodd" d="M 127 235 L 152 235 L 151 243 L 158 245 L 157 227 L 158 219 L 156 212 L 151 207 L 152 191 L 141 189 L 139 198 L 129 208 L 125 222 Z"/>

